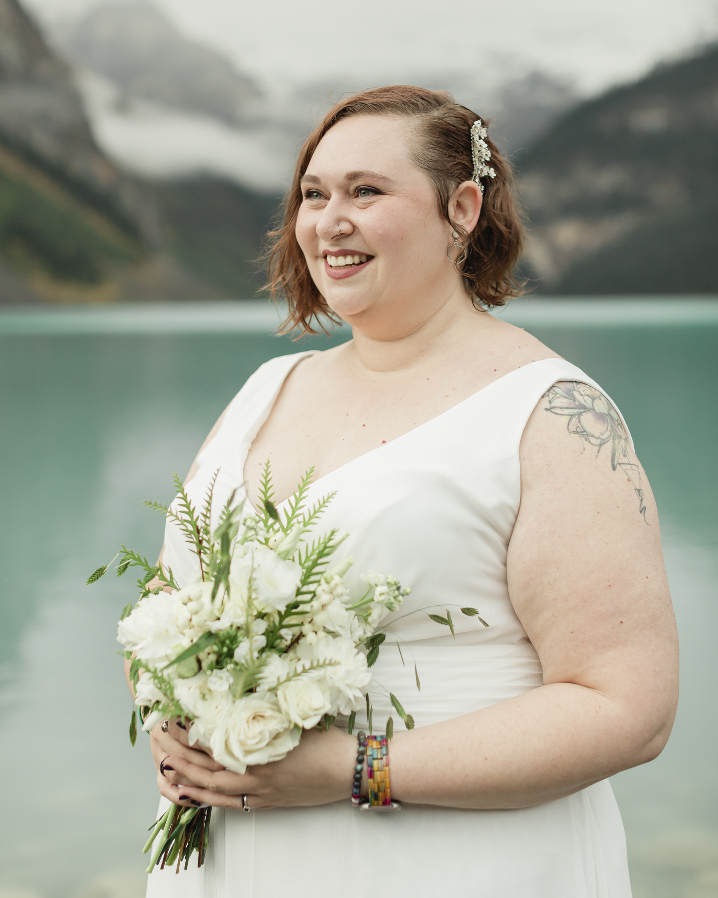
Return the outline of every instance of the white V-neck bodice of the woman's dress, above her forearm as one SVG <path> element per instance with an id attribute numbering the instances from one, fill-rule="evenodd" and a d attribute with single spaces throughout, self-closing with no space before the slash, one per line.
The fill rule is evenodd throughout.
<path id="1" fill-rule="evenodd" d="M 250 445 L 287 375 L 309 354 L 274 358 L 245 383 L 197 460 L 197 476 L 188 484 L 194 503 L 202 503 L 219 471 L 215 514 L 233 491 L 234 502 L 244 502 L 245 511 L 251 511 L 243 482 Z M 398 577 L 411 588 L 398 612 L 384 621 L 388 638 L 375 680 L 394 692 L 408 687 L 403 695 L 411 695 L 412 708 L 425 707 L 424 715 L 414 715 L 417 725 L 493 704 L 542 683 L 538 656 L 508 593 L 506 553 L 521 500 L 521 434 L 541 396 L 559 380 L 597 386 L 563 359 L 532 362 L 311 484 L 310 505 L 336 494 L 317 529 L 348 531 L 336 559 L 355 560 L 348 575 L 350 591 L 357 597 L 363 593 L 360 576 L 369 571 Z M 165 560 L 180 585 L 188 581 L 193 556 L 173 524 L 167 526 Z M 461 614 L 466 606 L 477 608 L 489 626 Z M 444 608 L 451 612 L 455 638 L 428 616 Z M 396 642 L 408 649 L 410 661 L 417 661 L 421 695 L 415 695 L 413 664 L 409 672 L 407 658 L 402 660 L 393 647 Z M 433 651 L 440 648 L 441 653 Z M 439 656 L 445 659 L 441 665 L 435 663 Z M 439 672 L 451 671 L 460 657 L 476 668 L 476 676 L 457 705 L 447 690 L 466 687 L 446 682 Z M 375 704 L 390 713 L 381 694 Z"/>

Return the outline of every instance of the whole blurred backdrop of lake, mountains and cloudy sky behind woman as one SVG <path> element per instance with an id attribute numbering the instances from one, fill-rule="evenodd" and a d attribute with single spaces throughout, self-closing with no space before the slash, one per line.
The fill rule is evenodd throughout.
<path id="1" fill-rule="evenodd" d="M 0 0 L 0 898 L 141 898 L 156 791 L 114 641 L 206 432 L 293 343 L 255 260 L 331 101 L 491 120 L 527 207 L 501 310 L 617 401 L 682 642 L 670 743 L 613 779 L 635 898 L 718 898 L 715 0 Z M 0 579 L 0 584 L 2 580 Z M 477 871 L 480 877 L 480 871 Z"/>

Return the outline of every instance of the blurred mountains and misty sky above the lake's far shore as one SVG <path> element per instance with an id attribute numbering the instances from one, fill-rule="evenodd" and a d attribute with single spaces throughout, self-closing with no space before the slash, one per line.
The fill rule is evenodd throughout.
<path id="1" fill-rule="evenodd" d="M 715 0 L 0 0 L 0 301 L 247 298 L 346 92 L 492 122 L 537 294 L 718 290 Z"/>

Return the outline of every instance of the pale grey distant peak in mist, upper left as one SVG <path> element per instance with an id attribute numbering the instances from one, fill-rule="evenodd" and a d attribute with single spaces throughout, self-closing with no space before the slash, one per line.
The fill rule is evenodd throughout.
<path id="1" fill-rule="evenodd" d="M 99 6 L 55 30 L 68 57 L 116 84 L 127 98 L 243 125 L 261 93 L 224 57 L 182 37 L 144 2 Z"/>

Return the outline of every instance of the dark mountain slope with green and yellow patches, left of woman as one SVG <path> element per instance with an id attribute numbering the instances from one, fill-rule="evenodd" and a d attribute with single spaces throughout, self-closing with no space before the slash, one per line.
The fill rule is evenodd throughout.
<path id="1" fill-rule="evenodd" d="M 0 303 L 252 295 L 277 198 L 141 181 L 96 145 L 70 68 L 0 0 Z"/>

